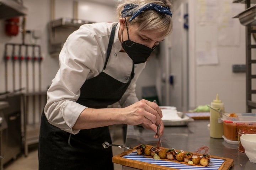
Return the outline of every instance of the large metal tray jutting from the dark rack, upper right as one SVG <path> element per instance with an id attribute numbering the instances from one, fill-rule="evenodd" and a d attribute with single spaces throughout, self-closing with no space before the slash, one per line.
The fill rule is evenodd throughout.
<path id="1" fill-rule="evenodd" d="M 256 26 L 256 5 L 247 8 L 245 11 L 239 13 L 233 18 L 239 18 L 240 23 L 244 26 L 247 26 L 248 24 Z"/>

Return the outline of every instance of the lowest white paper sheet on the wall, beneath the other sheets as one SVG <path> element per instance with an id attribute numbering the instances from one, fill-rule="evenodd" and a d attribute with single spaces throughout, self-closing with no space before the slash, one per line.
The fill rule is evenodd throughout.
<path id="1" fill-rule="evenodd" d="M 197 66 L 218 64 L 217 46 L 213 47 L 210 42 L 198 43 L 201 49 L 196 52 Z"/>

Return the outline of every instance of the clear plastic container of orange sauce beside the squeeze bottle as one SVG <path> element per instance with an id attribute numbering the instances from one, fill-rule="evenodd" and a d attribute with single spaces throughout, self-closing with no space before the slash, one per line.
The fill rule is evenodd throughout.
<path id="1" fill-rule="evenodd" d="M 229 117 L 229 113 L 225 115 L 222 117 L 223 132 L 228 140 L 238 141 L 238 132 L 241 128 L 256 129 L 255 113 L 236 113 L 238 117 Z"/>

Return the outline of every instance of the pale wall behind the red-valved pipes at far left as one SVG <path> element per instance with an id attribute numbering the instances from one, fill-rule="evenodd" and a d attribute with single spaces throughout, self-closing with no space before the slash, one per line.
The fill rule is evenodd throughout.
<path id="1" fill-rule="evenodd" d="M 42 51 L 42 90 L 46 90 L 47 87 L 50 85 L 51 80 L 53 79 L 55 73 L 58 70 L 58 61 L 56 58 L 51 58 L 48 54 L 48 22 L 50 20 L 50 1 L 45 0 L 45 1 L 39 1 L 39 0 L 23 0 L 24 6 L 28 8 L 28 15 L 26 16 L 26 29 L 27 30 L 37 30 L 41 32 L 41 38 L 35 41 L 31 34 L 26 35 L 25 43 L 26 44 L 33 44 L 36 42 L 36 44 L 41 46 L 41 51 Z M 20 20 L 22 21 L 22 17 L 20 17 Z M 21 24 L 20 21 L 20 24 Z M 19 33 L 17 36 L 7 36 L 5 34 L 5 21 L 0 20 L 0 53 L 1 56 L 4 55 L 4 45 L 5 43 L 22 43 L 22 35 Z M 9 51 L 8 55 L 11 55 L 11 52 Z M 24 55 L 24 54 L 23 54 Z M 31 53 L 30 53 L 31 55 Z M 31 72 L 31 62 L 29 63 L 30 67 L 30 73 L 29 75 L 32 74 Z M 22 86 L 25 86 L 25 64 L 22 64 L 22 77 L 23 77 L 23 84 Z M 36 64 L 37 65 L 37 64 Z M 4 60 L 0 60 L 0 92 L 5 91 L 5 70 L 4 70 Z M 16 70 L 18 73 L 18 69 L 16 66 Z M 37 70 L 37 69 L 36 69 Z M 8 91 L 13 91 L 12 89 L 12 64 L 11 61 L 8 63 Z M 36 75 L 38 77 L 38 74 Z M 17 81 L 16 81 L 17 82 Z M 31 81 L 30 81 L 31 84 Z M 31 87 L 31 86 L 30 86 Z"/>

